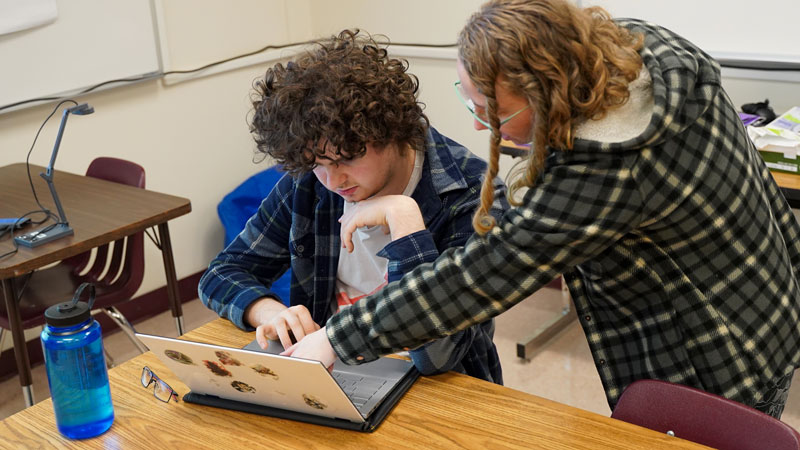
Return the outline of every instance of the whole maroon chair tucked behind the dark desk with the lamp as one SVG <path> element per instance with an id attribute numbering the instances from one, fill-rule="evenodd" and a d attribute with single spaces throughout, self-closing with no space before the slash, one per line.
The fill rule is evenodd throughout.
<path id="1" fill-rule="evenodd" d="M 142 166 L 123 159 L 96 158 L 86 170 L 86 176 L 115 183 L 144 188 Z M 147 351 L 134 336 L 130 322 L 115 307 L 133 297 L 144 277 L 144 233 L 140 232 L 59 263 L 31 272 L 14 280 L 20 296 L 20 319 L 23 329 L 44 324 L 44 311 L 55 304 L 68 301 L 83 282 L 96 286 L 93 313 L 106 313 L 134 345 Z M 10 329 L 5 303 L 0 304 L 0 345 L 3 330 Z M 22 351 L 26 351 L 22 349 Z M 109 363 L 113 364 L 110 355 Z"/>

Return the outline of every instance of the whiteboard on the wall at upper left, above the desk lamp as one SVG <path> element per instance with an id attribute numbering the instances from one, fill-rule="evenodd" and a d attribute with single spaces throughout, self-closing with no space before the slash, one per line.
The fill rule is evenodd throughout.
<path id="1" fill-rule="evenodd" d="M 151 0 L 58 0 L 55 22 L 0 35 L 0 107 L 161 72 Z"/>

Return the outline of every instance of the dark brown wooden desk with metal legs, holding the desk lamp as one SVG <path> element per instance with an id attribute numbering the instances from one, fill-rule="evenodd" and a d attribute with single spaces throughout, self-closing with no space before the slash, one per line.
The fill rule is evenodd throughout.
<path id="1" fill-rule="evenodd" d="M 55 211 L 47 184 L 39 176 L 42 171 L 43 167 L 31 165 L 31 178 L 39 200 L 45 207 Z M 75 230 L 75 234 L 36 248 L 20 246 L 14 255 L 0 258 L 0 280 L 3 283 L 6 311 L 11 322 L 10 331 L 14 339 L 19 380 L 28 406 L 33 403 L 31 369 L 28 353 L 16 351 L 25 349 L 25 340 L 19 321 L 19 295 L 13 282 L 15 277 L 157 226 L 170 307 L 178 333 L 183 333 L 183 313 L 178 298 L 178 283 L 167 221 L 189 213 L 192 210 L 189 200 L 60 171 L 55 172 L 54 183 L 67 220 Z M 0 167 L 0 217 L 19 217 L 36 209 L 38 206 L 31 193 L 25 164 Z M 13 248 L 13 241 L 8 235 L 0 240 L 0 254 Z"/>

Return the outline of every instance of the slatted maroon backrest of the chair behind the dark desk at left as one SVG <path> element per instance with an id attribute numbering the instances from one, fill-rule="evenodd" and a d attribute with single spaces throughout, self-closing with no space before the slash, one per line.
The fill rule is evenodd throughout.
<path id="1" fill-rule="evenodd" d="M 144 168 L 124 159 L 95 158 L 86 170 L 86 176 L 144 189 Z M 72 273 L 83 281 L 97 285 L 95 307 L 102 308 L 129 300 L 139 289 L 144 278 L 144 233 L 114 242 L 109 255 L 109 245 L 97 247 L 94 260 L 91 252 L 71 258 L 65 263 L 73 267 Z M 87 266 L 91 262 L 91 267 Z"/>

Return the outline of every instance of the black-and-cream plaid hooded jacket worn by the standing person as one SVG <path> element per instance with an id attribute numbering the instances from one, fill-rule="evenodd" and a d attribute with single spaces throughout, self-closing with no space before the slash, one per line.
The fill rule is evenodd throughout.
<path id="1" fill-rule="evenodd" d="M 620 23 L 645 37 L 646 130 L 552 149 L 538 184 L 486 237 L 328 321 L 342 360 L 484 321 L 564 273 L 612 409 L 642 378 L 754 405 L 798 366 L 800 228 L 718 65 L 664 28 Z"/>

